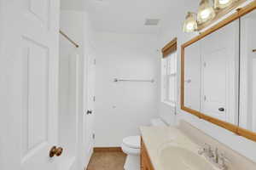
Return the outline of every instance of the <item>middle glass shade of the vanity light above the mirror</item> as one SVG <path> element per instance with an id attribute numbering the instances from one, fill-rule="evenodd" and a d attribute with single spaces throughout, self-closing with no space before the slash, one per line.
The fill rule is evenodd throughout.
<path id="1" fill-rule="evenodd" d="M 215 11 L 209 3 L 209 0 L 201 0 L 198 8 L 197 20 L 201 24 L 215 17 Z"/>

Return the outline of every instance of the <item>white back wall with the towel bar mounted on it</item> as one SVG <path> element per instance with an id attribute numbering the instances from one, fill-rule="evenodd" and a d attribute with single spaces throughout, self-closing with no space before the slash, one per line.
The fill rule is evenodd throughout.
<path id="1" fill-rule="evenodd" d="M 113 79 L 159 81 L 156 37 L 108 32 L 96 37 L 96 146 L 119 146 L 157 116 L 157 82 Z"/>

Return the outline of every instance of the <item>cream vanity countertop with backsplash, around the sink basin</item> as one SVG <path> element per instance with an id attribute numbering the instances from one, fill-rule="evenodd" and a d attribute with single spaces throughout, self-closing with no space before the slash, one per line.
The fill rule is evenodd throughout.
<path id="1" fill-rule="evenodd" d="M 230 161 L 227 164 L 229 170 L 256 169 L 255 162 L 250 161 L 245 156 L 241 156 L 236 151 L 231 150 L 229 146 L 219 143 L 218 140 L 212 139 L 212 137 L 203 133 L 188 122 L 181 121 L 177 127 L 140 127 L 140 130 L 144 146 L 148 152 L 154 170 L 169 170 L 168 167 L 162 167 L 163 159 L 160 159 L 160 152 L 165 149 L 166 144 L 177 144 L 198 155 L 198 150 L 201 148 L 200 145 L 205 143 L 211 145 L 212 148 L 218 148 L 219 151 L 224 153 L 225 157 Z M 178 156 L 175 155 L 174 159 L 177 157 Z M 172 160 L 173 157 L 168 155 L 166 161 L 170 161 L 170 159 Z M 215 170 L 218 168 L 214 167 L 213 169 Z"/>

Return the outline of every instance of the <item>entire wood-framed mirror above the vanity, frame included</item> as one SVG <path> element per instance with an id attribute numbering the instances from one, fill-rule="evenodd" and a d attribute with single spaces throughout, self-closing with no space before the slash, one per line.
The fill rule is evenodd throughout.
<path id="1" fill-rule="evenodd" d="M 254 9 L 256 1 L 182 45 L 181 109 L 256 141 Z"/>

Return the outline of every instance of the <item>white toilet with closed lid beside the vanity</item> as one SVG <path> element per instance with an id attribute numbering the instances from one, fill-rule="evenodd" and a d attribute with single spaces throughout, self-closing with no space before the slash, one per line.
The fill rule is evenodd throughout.
<path id="1" fill-rule="evenodd" d="M 166 126 L 166 123 L 160 119 L 152 119 L 152 126 Z M 122 150 L 127 154 L 125 161 L 125 170 L 140 170 L 140 150 L 141 150 L 141 137 L 129 136 L 123 139 Z"/>

